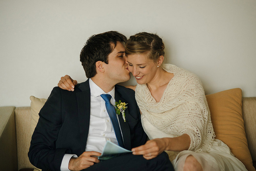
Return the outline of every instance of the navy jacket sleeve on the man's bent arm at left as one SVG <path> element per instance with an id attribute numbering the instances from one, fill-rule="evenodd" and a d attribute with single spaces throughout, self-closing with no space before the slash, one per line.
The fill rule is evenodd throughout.
<path id="1" fill-rule="evenodd" d="M 61 161 L 68 149 L 56 149 L 55 142 L 61 128 L 61 92 L 54 87 L 39 112 L 39 120 L 32 135 L 29 160 L 43 170 L 60 170 Z"/>

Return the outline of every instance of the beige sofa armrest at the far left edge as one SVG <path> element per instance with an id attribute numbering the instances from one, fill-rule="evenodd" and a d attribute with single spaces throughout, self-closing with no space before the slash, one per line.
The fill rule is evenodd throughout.
<path id="1" fill-rule="evenodd" d="M 0 107 L 0 170 L 18 170 L 15 107 Z"/>

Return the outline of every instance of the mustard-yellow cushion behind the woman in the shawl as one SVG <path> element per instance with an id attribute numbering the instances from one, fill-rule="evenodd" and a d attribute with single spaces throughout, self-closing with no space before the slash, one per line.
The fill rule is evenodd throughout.
<path id="1" fill-rule="evenodd" d="M 255 171 L 245 136 L 242 90 L 234 88 L 206 95 L 216 139 L 227 144 L 248 171 Z"/>

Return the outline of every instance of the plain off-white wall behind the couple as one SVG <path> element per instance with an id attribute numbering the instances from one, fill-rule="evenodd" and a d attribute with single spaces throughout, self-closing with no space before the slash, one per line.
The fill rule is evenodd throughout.
<path id="1" fill-rule="evenodd" d="M 80 50 L 109 30 L 158 33 L 167 62 L 196 73 L 206 94 L 256 96 L 255 0 L 0 0 L 0 106 L 48 98 L 65 74 L 86 80 Z"/>

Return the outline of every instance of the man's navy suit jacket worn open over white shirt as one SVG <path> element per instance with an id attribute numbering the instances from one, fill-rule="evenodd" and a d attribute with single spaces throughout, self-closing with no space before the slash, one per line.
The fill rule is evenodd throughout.
<path id="1" fill-rule="evenodd" d="M 115 100 L 128 103 L 126 122 L 118 115 L 124 139 L 124 147 L 131 150 L 146 142 L 135 93 L 116 85 Z M 60 170 L 65 153 L 80 156 L 86 148 L 90 124 L 89 80 L 75 86 L 75 91 L 54 87 L 39 112 L 39 120 L 33 133 L 30 162 L 42 170 Z"/>

